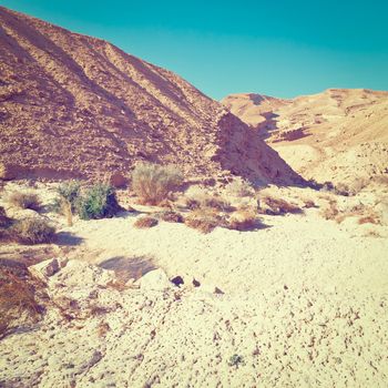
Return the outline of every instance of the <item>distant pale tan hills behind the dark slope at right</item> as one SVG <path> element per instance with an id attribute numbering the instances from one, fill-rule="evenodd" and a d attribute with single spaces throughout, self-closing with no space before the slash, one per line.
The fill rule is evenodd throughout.
<path id="1" fill-rule="evenodd" d="M 388 92 L 328 89 L 293 100 L 233 94 L 223 103 L 304 177 L 349 182 L 388 172 Z"/>

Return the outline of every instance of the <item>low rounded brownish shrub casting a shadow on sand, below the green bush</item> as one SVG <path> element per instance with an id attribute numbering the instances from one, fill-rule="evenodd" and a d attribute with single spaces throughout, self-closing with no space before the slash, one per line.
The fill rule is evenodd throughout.
<path id="1" fill-rule="evenodd" d="M 55 228 L 42 218 L 23 218 L 9 228 L 9 237 L 21 244 L 51 243 L 54 235 Z"/>

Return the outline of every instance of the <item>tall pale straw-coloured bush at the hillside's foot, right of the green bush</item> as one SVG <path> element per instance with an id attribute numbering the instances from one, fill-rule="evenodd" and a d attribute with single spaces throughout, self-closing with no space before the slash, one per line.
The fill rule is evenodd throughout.
<path id="1" fill-rule="evenodd" d="M 132 172 L 132 190 L 147 205 L 159 205 L 182 182 L 182 174 L 171 165 L 140 163 Z"/>

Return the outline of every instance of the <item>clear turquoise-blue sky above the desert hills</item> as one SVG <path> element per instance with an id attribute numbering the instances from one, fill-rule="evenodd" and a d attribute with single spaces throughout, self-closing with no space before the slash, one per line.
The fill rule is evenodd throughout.
<path id="1" fill-rule="evenodd" d="M 105 39 L 215 100 L 328 88 L 388 90 L 388 0 L 82 1 L 0 4 Z"/>

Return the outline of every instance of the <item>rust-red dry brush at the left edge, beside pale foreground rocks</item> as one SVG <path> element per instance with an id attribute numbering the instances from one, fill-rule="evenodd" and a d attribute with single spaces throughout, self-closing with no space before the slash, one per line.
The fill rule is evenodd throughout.
<path id="1" fill-rule="evenodd" d="M 38 321 L 44 309 L 37 300 L 44 285 L 31 275 L 20 278 L 0 267 L 0 338 L 21 323 Z"/>

